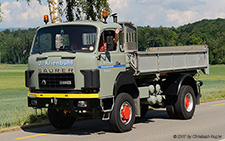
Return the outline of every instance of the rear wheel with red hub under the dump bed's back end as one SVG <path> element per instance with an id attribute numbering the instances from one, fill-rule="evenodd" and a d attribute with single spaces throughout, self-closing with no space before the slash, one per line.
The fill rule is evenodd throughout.
<path id="1" fill-rule="evenodd" d="M 193 88 L 183 85 L 174 105 L 177 117 L 180 119 L 191 119 L 195 112 L 195 105 L 196 97 Z"/>

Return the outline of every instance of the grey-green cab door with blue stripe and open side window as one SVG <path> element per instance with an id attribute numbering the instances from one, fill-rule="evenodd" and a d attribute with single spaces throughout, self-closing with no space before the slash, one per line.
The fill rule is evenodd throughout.
<path id="1" fill-rule="evenodd" d="M 110 44 L 112 45 L 111 47 Z M 126 70 L 125 54 L 116 42 L 115 31 L 101 33 L 98 47 L 98 69 L 100 72 L 100 97 L 112 96 L 118 74 Z"/>

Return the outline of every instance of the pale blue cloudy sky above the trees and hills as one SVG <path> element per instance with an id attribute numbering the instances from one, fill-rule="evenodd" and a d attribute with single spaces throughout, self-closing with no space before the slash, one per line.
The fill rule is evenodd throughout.
<path id="1" fill-rule="evenodd" d="M 178 27 L 202 19 L 225 18 L 225 0 L 108 0 L 119 21 L 137 26 Z M 44 25 L 47 0 L 0 0 L 0 28 L 32 28 Z"/>

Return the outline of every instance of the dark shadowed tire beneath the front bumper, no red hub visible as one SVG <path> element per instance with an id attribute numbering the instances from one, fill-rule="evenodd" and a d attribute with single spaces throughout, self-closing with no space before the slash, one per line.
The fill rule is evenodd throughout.
<path id="1" fill-rule="evenodd" d="M 64 114 L 63 110 L 48 109 L 48 118 L 53 127 L 69 129 L 75 122 L 75 117 Z"/>

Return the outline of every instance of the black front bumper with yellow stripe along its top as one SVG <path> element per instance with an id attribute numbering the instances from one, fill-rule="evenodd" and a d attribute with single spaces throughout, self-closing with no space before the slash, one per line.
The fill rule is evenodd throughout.
<path id="1" fill-rule="evenodd" d="M 86 101 L 88 107 L 99 105 L 99 94 L 28 93 L 28 106 L 33 108 L 80 109 L 78 101 Z"/>

